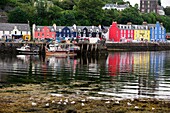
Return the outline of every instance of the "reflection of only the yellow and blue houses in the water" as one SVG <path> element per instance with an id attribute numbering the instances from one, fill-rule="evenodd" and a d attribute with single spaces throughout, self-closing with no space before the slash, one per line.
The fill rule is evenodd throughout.
<path id="1" fill-rule="evenodd" d="M 134 54 L 134 74 L 138 75 L 138 95 L 156 96 L 157 81 L 163 73 L 164 52 L 138 52 Z"/>

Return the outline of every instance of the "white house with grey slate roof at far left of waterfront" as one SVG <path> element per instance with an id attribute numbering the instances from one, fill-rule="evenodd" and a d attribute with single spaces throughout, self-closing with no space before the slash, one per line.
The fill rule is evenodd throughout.
<path id="1" fill-rule="evenodd" d="M 0 23 L 1 40 L 19 40 L 23 39 L 24 35 L 31 35 L 29 24 Z"/>

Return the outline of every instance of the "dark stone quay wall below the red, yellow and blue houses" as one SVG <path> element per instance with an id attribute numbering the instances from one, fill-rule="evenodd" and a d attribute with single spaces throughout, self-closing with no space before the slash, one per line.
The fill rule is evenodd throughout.
<path id="1" fill-rule="evenodd" d="M 166 51 L 170 43 L 106 43 L 107 51 Z"/>

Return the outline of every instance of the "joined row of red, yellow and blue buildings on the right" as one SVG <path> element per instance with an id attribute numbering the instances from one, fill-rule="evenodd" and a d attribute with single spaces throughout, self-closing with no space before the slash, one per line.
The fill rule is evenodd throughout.
<path id="1" fill-rule="evenodd" d="M 166 41 L 166 29 L 159 22 L 156 24 L 127 25 L 113 22 L 109 28 L 109 40 L 114 42 L 126 41 Z"/>

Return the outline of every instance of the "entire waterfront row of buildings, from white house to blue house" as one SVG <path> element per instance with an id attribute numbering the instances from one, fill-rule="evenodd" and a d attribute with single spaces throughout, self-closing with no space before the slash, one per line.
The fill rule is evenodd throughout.
<path id="1" fill-rule="evenodd" d="M 31 40 L 29 24 L 0 23 L 0 39 Z M 126 25 L 113 22 L 105 26 L 32 26 L 33 40 L 68 40 L 68 39 L 105 38 L 114 42 L 128 41 L 166 41 L 166 29 L 159 22 L 156 24 Z"/>

